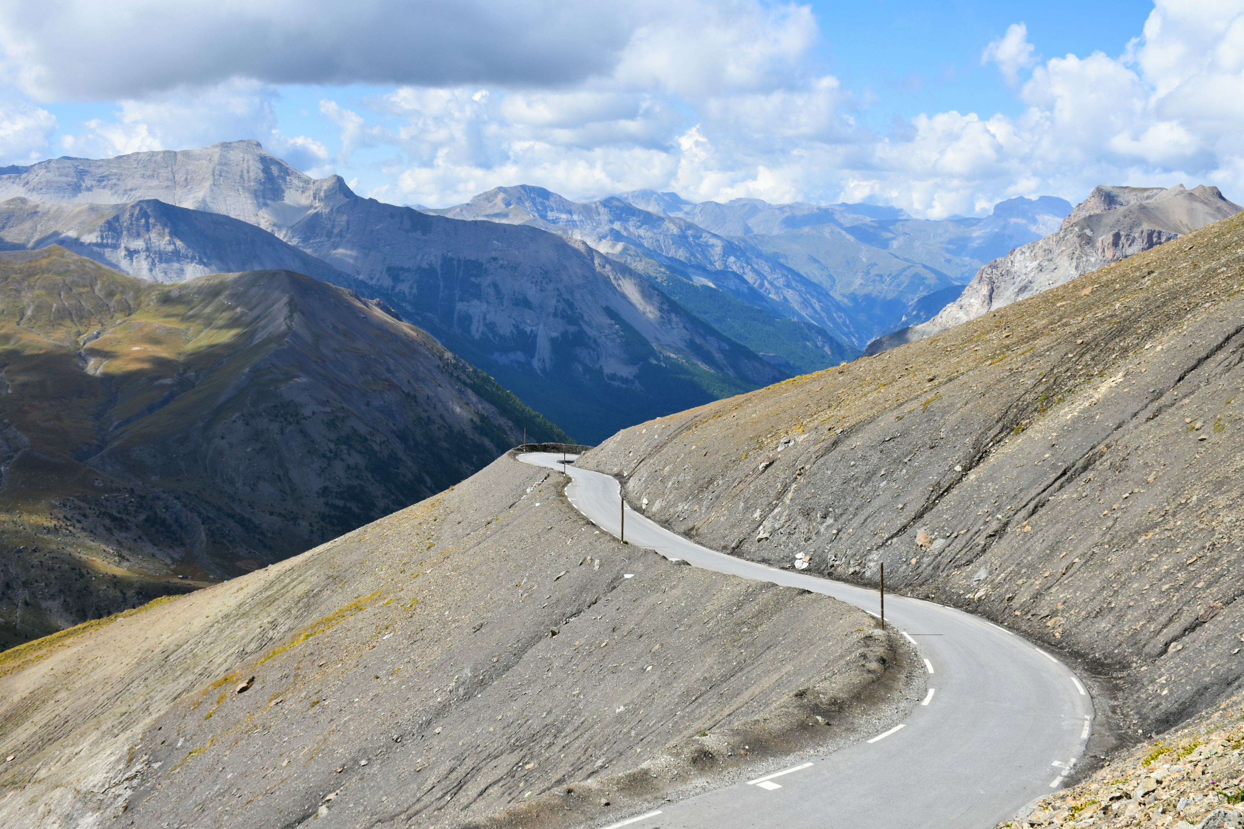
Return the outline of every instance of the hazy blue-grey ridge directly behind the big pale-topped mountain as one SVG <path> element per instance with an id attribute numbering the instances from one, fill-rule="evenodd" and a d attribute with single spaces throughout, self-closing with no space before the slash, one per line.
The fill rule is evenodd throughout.
<path id="1" fill-rule="evenodd" d="M 833 296 L 754 245 L 725 239 L 684 219 L 637 208 L 621 198 L 581 203 L 540 187 L 499 187 L 466 204 L 424 212 L 525 224 L 582 239 L 637 270 L 673 268 L 693 283 L 720 289 L 770 312 L 811 322 L 843 342 L 860 339 L 851 315 Z"/>

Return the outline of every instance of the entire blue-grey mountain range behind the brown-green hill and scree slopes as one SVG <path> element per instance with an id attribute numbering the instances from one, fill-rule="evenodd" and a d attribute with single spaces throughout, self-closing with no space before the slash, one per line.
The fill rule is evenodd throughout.
<path id="1" fill-rule="evenodd" d="M 853 358 L 1069 210 L 1020 198 L 927 222 L 648 190 L 577 203 L 535 187 L 415 210 L 253 141 L 0 174 L 0 245 L 61 244 L 158 281 L 284 268 L 381 297 L 586 442 Z"/>

